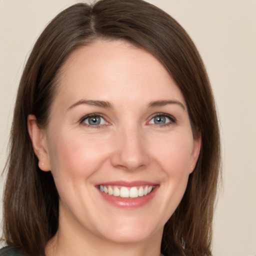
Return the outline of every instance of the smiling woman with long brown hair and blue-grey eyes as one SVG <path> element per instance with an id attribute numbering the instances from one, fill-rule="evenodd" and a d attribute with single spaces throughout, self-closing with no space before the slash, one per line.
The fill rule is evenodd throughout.
<path id="1" fill-rule="evenodd" d="M 1 253 L 211 255 L 218 170 L 214 100 L 184 29 L 141 0 L 75 4 L 21 77 Z"/>

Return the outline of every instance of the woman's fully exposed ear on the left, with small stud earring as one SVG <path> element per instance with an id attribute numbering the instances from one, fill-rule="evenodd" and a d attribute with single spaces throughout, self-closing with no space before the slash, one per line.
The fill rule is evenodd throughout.
<path id="1" fill-rule="evenodd" d="M 38 158 L 38 166 L 43 171 L 50 170 L 46 134 L 39 128 L 33 114 L 27 116 L 27 128 L 34 153 Z"/>

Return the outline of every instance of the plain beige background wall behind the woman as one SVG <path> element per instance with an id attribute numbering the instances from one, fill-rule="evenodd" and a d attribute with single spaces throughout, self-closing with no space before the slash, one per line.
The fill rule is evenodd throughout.
<path id="1" fill-rule="evenodd" d="M 223 187 L 215 214 L 213 253 L 256 255 L 256 0 L 149 1 L 188 31 L 216 97 Z M 0 169 L 24 60 L 47 22 L 75 2 L 0 0 Z M 2 183 L 1 179 L 0 193 Z"/>

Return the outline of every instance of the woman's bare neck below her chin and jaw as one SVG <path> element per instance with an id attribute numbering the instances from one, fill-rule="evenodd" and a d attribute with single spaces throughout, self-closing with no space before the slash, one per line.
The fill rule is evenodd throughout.
<path id="1" fill-rule="evenodd" d="M 160 256 L 162 230 L 136 242 L 115 242 L 84 230 L 76 221 L 61 221 L 45 247 L 46 256 Z M 65 224 L 62 224 L 65 223 Z"/>

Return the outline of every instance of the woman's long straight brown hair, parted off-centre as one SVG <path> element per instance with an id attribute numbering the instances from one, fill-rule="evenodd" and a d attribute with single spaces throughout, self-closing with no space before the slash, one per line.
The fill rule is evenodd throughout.
<path id="1" fill-rule="evenodd" d="M 185 30 L 142 0 L 78 3 L 60 12 L 37 39 L 16 98 L 4 190 L 7 245 L 43 255 L 58 228 L 58 193 L 50 172 L 40 171 L 27 131 L 27 116 L 47 125 L 58 71 L 74 49 L 96 39 L 124 39 L 153 54 L 181 90 L 201 150 L 185 194 L 164 226 L 165 255 L 211 255 L 211 225 L 219 173 L 217 117 L 202 60 Z"/>

